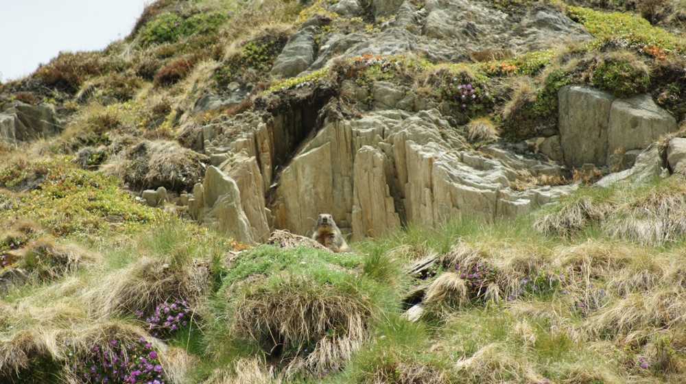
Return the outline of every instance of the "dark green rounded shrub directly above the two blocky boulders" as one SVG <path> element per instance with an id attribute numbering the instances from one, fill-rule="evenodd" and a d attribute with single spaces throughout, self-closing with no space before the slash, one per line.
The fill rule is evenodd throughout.
<path id="1" fill-rule="evenodd" d="M 648 91 L 650 77 L 628 60 L 602 62 L 593 71 L 593 85 L 611 91 L 615 97 L 630 97 Z"/>

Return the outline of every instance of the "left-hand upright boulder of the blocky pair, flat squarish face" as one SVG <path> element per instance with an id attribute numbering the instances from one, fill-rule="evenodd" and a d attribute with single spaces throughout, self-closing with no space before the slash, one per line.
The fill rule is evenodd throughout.
<path id="1" fill-rule="evenodd" d="M 605 165 L 612 95 L 586 86 L 563 86 L 558 100 L 565 163 L 571 167 Z"/>

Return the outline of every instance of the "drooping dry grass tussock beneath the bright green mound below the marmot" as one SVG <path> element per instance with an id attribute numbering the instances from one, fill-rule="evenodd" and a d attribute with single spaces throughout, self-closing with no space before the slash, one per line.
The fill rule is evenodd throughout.
<path id="1" fill-rule="evenodd" d="M 372 316 L 366 296 L 341 288 L 295 276 L 246 287 L 233 326 L 272 357 L 296 357 L 287 371 L 331 368 L 359 349 Z"/>

